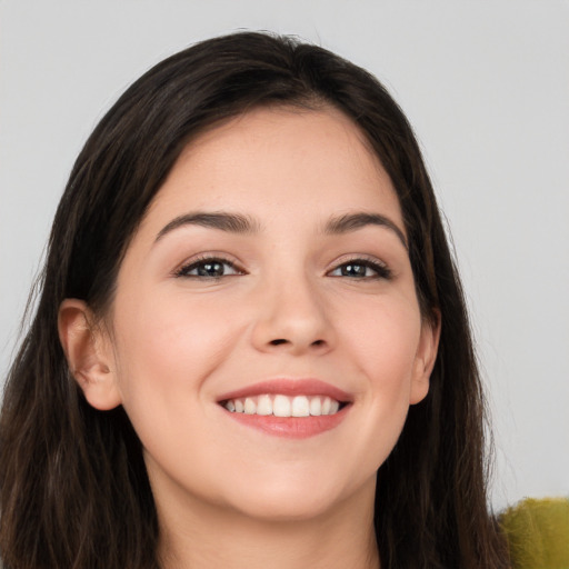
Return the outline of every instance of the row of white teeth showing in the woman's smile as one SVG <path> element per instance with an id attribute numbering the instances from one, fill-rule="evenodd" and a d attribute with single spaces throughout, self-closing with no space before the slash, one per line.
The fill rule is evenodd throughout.
<path id="1" fill-rule="evenodd" d="M 335 415 L 340 410 L 339 401 L 325 396 L 261 395 L 228 399 L 223 406 L 230 412 L 274 417 L 320 417 Z"/>

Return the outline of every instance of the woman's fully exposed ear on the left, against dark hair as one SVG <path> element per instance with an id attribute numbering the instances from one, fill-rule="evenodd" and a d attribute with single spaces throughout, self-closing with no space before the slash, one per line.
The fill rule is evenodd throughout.
<path id="1" fill-rule="evenodd" d="M 113 352 L 108 335 L 92 322 L 92 312 L 82 300 L 66 299 L 59 307 L 59 340 L 69 369 L 91 407 L 101 411 L 121 403 L 113 371 Z"/>

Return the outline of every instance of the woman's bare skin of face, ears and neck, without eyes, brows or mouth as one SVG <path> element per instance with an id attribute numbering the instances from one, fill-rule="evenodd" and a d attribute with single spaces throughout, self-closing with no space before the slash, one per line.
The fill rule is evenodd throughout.
<path id="1" fill-rule="evenodd" d="M 197 211 L 252 227 L 164 230 Z M 393 227 L 323 231 L 355 212 Z M 60 336 L 87 399 L 122 405 L 142 441 L 164 567 L 379 567 L 376 472 L 428 392 L 438 343 L 401 236 L 392 183 L 348 118 L 259 109 L 181 154 L 126 253 L 107 326 L 63 302 Z M 208 256 L 232 263 L 226 276 L 194 264 L 176 276 Z M 343 420 L 289 439 L 218 402 L 276 378 L 345 390 Z"/>

